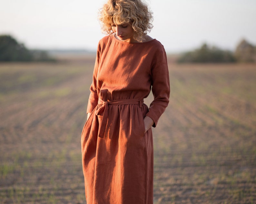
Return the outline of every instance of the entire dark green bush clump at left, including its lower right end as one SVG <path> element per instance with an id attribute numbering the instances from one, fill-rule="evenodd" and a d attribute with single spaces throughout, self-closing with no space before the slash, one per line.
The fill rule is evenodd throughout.
<path id="1" fill-rule="evenodd" d="M 10 35 L 0 35 L 0 61 L 55 61 L 47 52 L 31 51 Z"/>

